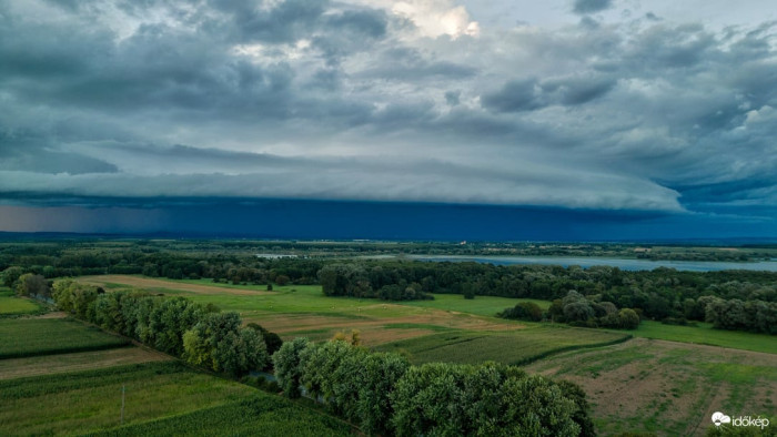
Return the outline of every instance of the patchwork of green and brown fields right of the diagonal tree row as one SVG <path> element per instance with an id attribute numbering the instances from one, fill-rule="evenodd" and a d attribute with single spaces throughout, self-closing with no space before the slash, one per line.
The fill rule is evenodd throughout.
<path id="1" fill-rule="evenodd" d="M 139 287 L 140 280 L 145 278 L 110 275 L 81 281 L 115 291 Z M 531 363 L 529 372 L 581 384 L 605 435 L 703 435 L 715 410 L 777 419 L 774 336 L 649 321 L 634 332 L 512 322 L 493 316 L 521 301 L 504 297 L 467 301 L 435 295 L 434 301 L 383 303 L 327 297 L 320 286 L 275 286 L 266 292 L 265 286 L 209 281 L 153 281 L 153 287 L 145 288 L 150 292 L 236 311 L 245 323 L 260 323 L 284 339 L 325 339 L 339 331 L 360 329 L 365 345 L 404 353 L 416 364 Z M 192 285 L 198 288 L 183 288 Z M 637 338 L 628 339 L 629 334 Z M 603 344 L 610 345 L 596 347 Z"/>

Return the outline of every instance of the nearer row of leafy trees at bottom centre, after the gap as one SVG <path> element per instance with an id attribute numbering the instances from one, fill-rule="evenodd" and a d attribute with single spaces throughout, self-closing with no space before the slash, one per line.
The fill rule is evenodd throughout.
<path id="1" fill-rule="evenodd" d="M 578 386 L 514 366 L 411 366 L 397 354 L 306 338 L 284 343 L 273 362 L 286 396 L 304 390 L 370 435 L 595 435 Z"/>

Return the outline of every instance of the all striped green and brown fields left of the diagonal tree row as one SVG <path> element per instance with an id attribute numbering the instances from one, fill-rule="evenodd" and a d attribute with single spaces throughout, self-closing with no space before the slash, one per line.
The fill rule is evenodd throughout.
<path id="1" fill-rule="evenodd" d="M 127 344 L 63 318 L 0 321 L 0 435 L 352 434 L 299 403 Z M 67 352 L 84 348 L 101 350 Z M 122 388 L 124 426 L 113 429 Z"/>

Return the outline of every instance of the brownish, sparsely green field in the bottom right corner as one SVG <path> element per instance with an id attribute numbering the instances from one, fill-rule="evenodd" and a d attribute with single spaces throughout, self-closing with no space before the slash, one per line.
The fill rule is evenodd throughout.
<path id="1" fill-rule="evenodd" d="M 777 419 L 774 354 L 636 338 L 526 368 L 579 384 L 605 435 L 704 435 L 715 411 Z"/>

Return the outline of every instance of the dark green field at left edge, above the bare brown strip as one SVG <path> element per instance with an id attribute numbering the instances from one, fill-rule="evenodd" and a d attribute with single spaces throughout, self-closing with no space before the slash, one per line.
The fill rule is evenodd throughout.
<path id="1" fill-rule="evenodd" d="M 109 349 L 128 344 L 125 338 L 70 319 L 0 319 L 0 358 Z"/>

